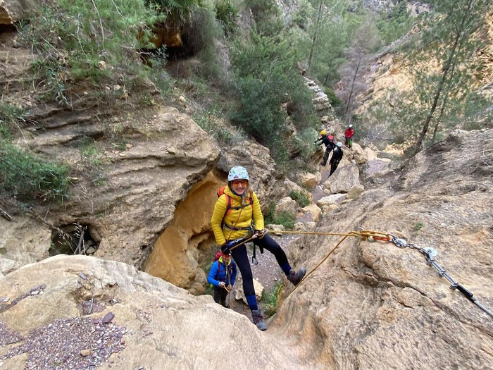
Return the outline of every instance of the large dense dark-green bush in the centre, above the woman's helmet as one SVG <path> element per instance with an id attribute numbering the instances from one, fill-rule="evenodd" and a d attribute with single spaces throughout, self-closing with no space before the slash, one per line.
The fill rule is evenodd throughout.
<path id="1" fill-rule="evenodd" d="M 297 116 L 307 116 L 308 109 L 313 109 L 306 104 L 308 88 L 289 44 L 253 33 L 250 43 L 235 42 L 230 55 L 238 101 L 230 113 L 232 122 L 269 147 L 276 161 L 289 159 L 286 143 L 280 139 L 286 115 L 282 104 L 289 102 Z"/>

